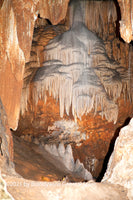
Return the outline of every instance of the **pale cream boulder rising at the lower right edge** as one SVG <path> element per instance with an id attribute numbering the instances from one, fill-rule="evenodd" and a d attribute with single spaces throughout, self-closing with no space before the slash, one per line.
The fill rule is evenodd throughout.
<path id="1" fill-rule="evenodd" d="M 115 142 L 107 172 L 103 181 L 119 184 L 128 189 L 129 199 L 133 198 L 133 118 L 121 129 Z"/>

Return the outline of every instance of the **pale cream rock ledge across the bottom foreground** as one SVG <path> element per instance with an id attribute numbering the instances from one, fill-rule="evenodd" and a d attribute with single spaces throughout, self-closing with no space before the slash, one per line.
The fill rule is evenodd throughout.
<path id="1" fill-rule="evenodd" d="M 40 182 L 12 176 L 4 179 L 15 200 L 128 200 L 121 186 L 108 183 Z"/>

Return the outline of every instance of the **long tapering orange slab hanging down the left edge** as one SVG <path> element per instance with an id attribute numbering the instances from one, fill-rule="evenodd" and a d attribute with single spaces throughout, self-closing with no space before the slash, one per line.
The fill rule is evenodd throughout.
<path id="1" fill-rule="evenodd" d="M 17 127 L 25 58 L 19 47 L 11 1 L 0 10 L 0 95 L 11 128 Z"/>

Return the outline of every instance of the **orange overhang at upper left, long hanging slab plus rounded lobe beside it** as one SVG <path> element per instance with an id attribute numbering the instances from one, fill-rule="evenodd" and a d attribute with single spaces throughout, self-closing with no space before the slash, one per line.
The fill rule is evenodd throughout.
<path id="1" fill-rule="evenodd" d="M 40 12 L 55 24 L 65 17 L 67 5 L 68 0 L 0 3 L 0 94 L 12 129 L 18 124 L 24 66 L 29 60 L 37 15 Z"/>

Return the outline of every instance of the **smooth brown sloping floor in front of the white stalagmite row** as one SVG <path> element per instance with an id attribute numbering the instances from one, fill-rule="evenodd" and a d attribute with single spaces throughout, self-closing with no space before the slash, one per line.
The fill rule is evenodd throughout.
<path id="1" fill-rule="evenodd" d="M 83 181 L 79 177 L 73 177 L 61 162 L 39 145 L 16 136 L 13 140 L 15 171 L 23 178 L 33 181 L 62 181 L 67 176 L 70 182 Z"/>

